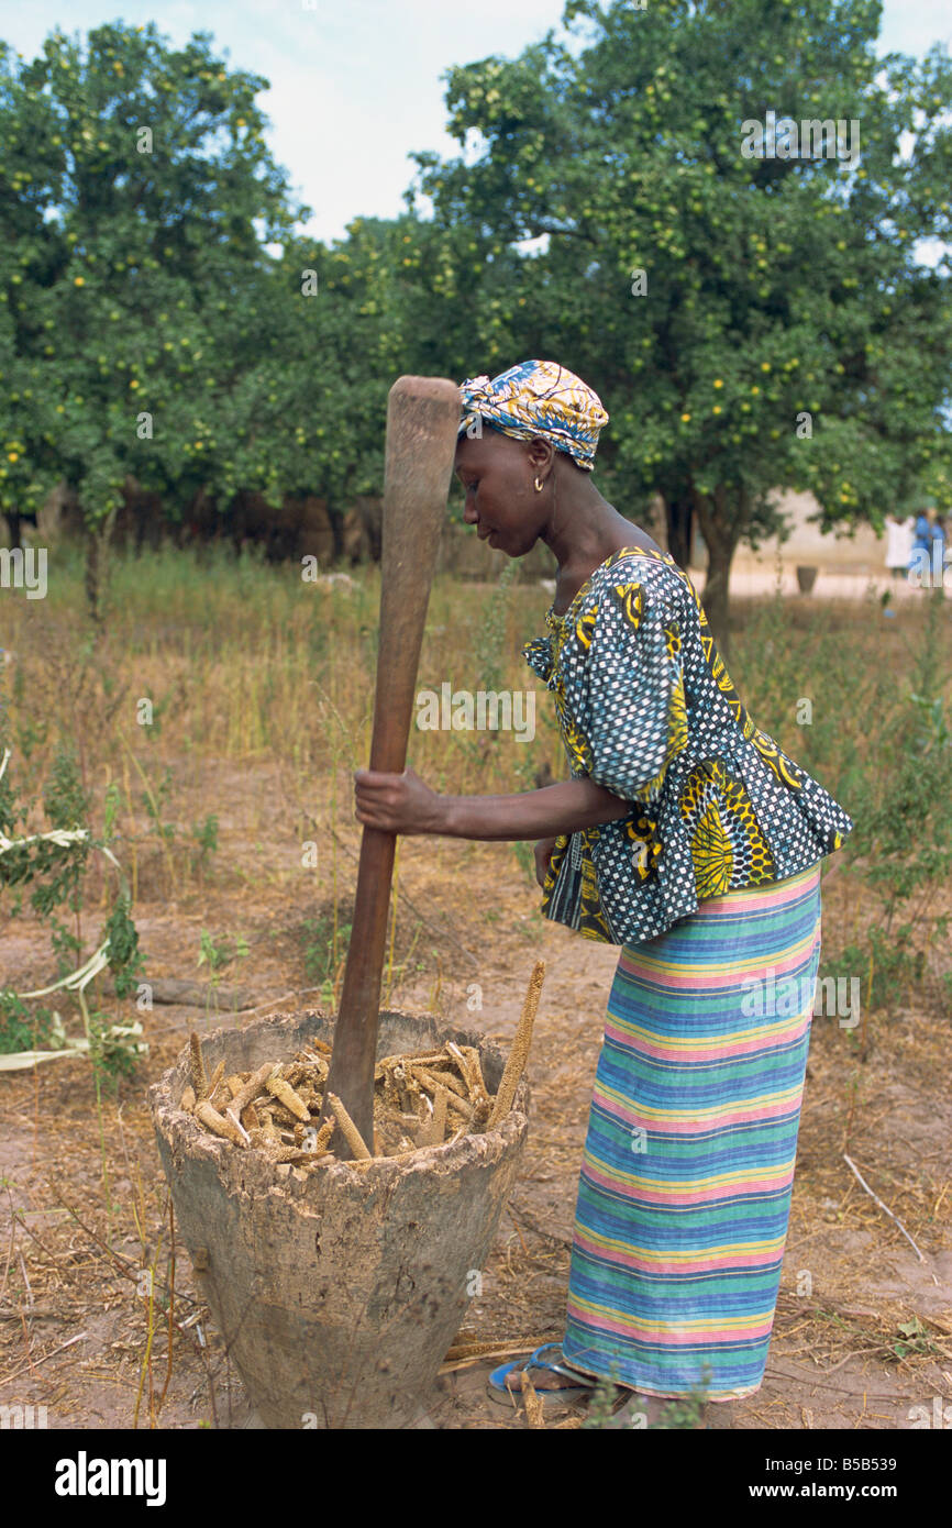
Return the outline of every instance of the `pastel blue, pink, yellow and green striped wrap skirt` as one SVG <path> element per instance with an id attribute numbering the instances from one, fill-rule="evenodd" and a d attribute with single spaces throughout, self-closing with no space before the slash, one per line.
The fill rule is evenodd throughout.
<path id="1" fill-rule="evenodd" d="M 623 946 L 562 1354 L 651 1395 L 764 1378 L 821 946 L 819 863 Z"/>

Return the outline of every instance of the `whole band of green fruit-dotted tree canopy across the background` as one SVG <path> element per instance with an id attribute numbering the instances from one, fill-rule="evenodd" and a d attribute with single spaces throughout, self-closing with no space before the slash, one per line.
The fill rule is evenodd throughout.
<path id="1" fill-rule="evenodd" d="M 0 506 L 60 478 L 90 524 L 130 478 L 171 515 L 341 504 L 379 487 L 397 374 L 544 356 L 605 400 L 617 507 L 660 494 L 682 561 L 700 521 L 723 631 L 775 489 L 830 529 L 952 478 L 952 66 L 879 58 L 879 23 L 570 0 L 559 37 L 448 72 L 460 154 L 416 154 L 406 212 L 330 246 L 266 148 L 266 81 L 208 34 L 2 46 Z"/>

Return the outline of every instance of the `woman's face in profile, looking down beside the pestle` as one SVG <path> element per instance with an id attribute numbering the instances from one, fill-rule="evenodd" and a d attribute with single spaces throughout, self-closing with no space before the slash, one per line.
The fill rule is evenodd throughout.
<path id="1" fill-rule="evenodd" d="M 515 440 L 483 425 L 481 435 L 460 435 L 455 474 L 466 490 L 463 520 L 477 527 L 480 541 L 521 558 L 544 530 L 549 495 L 533 481 L 546 465 L 555 466 L 555 448 L 539 437 Z"/>

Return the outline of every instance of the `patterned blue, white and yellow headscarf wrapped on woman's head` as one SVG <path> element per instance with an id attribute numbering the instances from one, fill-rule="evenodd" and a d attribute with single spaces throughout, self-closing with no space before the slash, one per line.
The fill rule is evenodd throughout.
<path id="1" fill-rule="evenodd" d="M 468 377 L 460 387 L 463 419 L 458 434 L 483 417 L 504 435 L 530 440 L 547 435 L 578 466 L 591 472 L 599 431 L 608 423 L 597 393 L 555 361 L 520 361 L 492 382 Z"/>

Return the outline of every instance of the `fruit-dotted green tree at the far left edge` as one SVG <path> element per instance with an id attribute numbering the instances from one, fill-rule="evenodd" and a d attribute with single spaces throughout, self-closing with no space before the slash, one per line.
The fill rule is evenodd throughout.
<path id="1" fill-rule="evenodd" d="M 0 63 L 0 506 L 35 509 L 64 478 L 101 544 L 130 480 L 177 503 L 234 481 L 263 246 L 295 209 L 261 136 L 266 81 L 208 34 L 176 50 L 154 24 L 57 31 Z"/>

